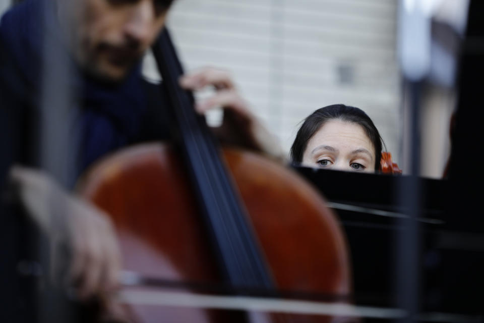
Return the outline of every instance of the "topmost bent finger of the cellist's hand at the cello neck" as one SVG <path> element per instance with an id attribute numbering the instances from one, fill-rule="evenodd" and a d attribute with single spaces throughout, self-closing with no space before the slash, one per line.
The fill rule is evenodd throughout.
<path id="1" fill-rule="evenodd" d="M 213 85 L 217 89 L 235 88 L 230 73 L 214 68 L 203 68 L 184 75 L 180 78 L 179 83 L 190 90 L 201 90 L 209 85 Z"/>

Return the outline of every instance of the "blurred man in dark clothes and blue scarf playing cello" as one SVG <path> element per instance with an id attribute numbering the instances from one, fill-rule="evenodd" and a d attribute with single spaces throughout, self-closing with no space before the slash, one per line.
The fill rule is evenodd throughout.
<path id="1" fill-rule="evenodd" d="M 32 129 L 45 94 L 42 76 L 50 68 L 43 64 L 48 50 L 42 40 L 48 34 L 56 42 L 68 58 L 65 68 L 72 72 L 64 86 L 74 93 L 69 109 L 76 117 L 70 127 L 79 143 L 75 166 L 79 175 L 108 152 L 168 137 L 166 121 L 156 110 L 165 104 L 164 98 L 142 79 L 140 65 L 163 28 L 171 3 L 26 0 L 7 12 L 0 24 L 1 183 L 16 184 L 22 205 L 50 238 L 52 250 L 69 247 L 72 257 L 63 279 L 68 285 L 76 282 L 82 298 L 115 289 L 121 260 L 105 214 L 32 168 Z M 196 109 L 203 113 L 224 106 L 229 113 L 222 130 L 236 128 L 251 139 L 251 148 L 273 149 L 268 133 L 248 112 L 226 72 L 202 69 L 186 75 L 180 84 L 191 90 L 214 86 L 215 94 Z M 52 207 L 53 200 L 62 207 Z M 5 205 L 2 208 L 10 212 Z M 59 261 L 53 254 L 55 264 Z"/>

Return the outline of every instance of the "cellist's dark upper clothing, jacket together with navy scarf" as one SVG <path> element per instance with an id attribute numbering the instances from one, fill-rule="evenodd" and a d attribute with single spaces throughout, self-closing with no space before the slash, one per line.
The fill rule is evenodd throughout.
<path id="1" fill-rule="evenodd" d="M 84 75 L 58 41 L 59 28 L 49 3 L 26 0 L 8 11 L 0 22 L 1 197 L 9 191 L 6 179 L 13 164 L 39 164 L 41 109 L 50 108 L 45 104 L 46 72 L 70 70 L 69 78 L 62 83 L 50 80 L 54 83 L 49 84 L 49 95 L 62 95 L 66 90 L 73 94 L 66 101 L 70 118 L 61 122 L 68 125 L 66 136 L 72 137 L 75 176 L 109 152 L 169 137 L 163 110 L 166 101 L 159 86 L 142 79 L 140 66 L 119 84 L 101 83 Z M 63 64 L 56 61 L 57 57 L 46 58 L 49 51 L 58 55 Z M 0 302 L 5 305 L 1 321 L 35 318 L 28 298 L 20 293 L 25 279 L 17 275 L 19 260 L 29 257 L 29 240 L 32 228 L 28 220 L 19 215 L 17 206 L 0 199 Z M 4 315 L 10 317 L 4 319 Z"/>

